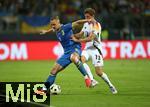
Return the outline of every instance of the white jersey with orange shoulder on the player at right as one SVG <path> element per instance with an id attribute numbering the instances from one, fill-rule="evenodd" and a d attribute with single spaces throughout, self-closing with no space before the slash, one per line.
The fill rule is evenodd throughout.
<path id="1" fill-rule="evenodd" d="M 96 35 L 96 38 L 90 42 L 86 42 L 85 49 L 91 49 L 99 47 L 101 49 L 101 25 L 99 22 L 94 23 L 84 23 L 82 30 L 84 32 L 84 36 L 87 37 L 91 32 Z"/>

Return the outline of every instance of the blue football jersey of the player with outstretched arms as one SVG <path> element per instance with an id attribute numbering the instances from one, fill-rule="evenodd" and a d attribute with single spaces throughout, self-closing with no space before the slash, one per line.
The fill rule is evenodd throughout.
<path id="1" fill-rule="evenodd" d="M 71 40 L 71 36 L 73 35 L 72 23 L 62 25 L 61 29 L 56 32 L 56 35 L 64 49 L 64 53 L 70 52 L 74 48 L 81 48 L 80 43 Z"/>

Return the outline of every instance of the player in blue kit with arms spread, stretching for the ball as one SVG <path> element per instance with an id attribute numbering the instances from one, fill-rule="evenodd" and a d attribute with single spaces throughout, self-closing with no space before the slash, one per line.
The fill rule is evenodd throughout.
<path id="1" fill-rule="evenodd" d="M 78 25 L 83 24 L 85 22 L 90 21 L 89 19 L 78 20 L 72 23 L 67 23 L 65 25 L 60 23 L 58 16 L 51 18 L 51 28 L 49 30 L 42 30 L 41 34 L 45 34 L 47 32 L 55 31 L 59 42 L 61 43 L 64 54 L 56 61 L 56 64 L 52 68 L 50 75 L 48 76 L 45 82 L 45 88 L 43 90 L 47 90 L 55 81 L 56 75 L 58 72 L 67 67 L 70 63 L 74 63 L 81 74 L 84 76 L 85 83 L 87 87 L 90 87 L 91 80 L 88 77 L 86 70 L 83 67 L 83 64 L 80 60 L 81 55 L 81 44 L 78 42 L 74 42 L 72 40 L 73 28 L 78 27 Z M 44 92 L 38 91 L 38 94 L 42 94 Z"/>

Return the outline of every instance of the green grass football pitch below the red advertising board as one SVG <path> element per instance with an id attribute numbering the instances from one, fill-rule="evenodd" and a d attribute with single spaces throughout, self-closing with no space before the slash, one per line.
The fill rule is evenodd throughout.
<path id="1" fill-rule="evenodd" d="M 106 60 L 104 71 L 118 89 L 112 95 L 101 78 L 88 89 L 77 68 L 71 64 L 58 74 L 60 95 L 51 97 L 54 107 L 150 107 L 150 60 Z M 54 61 L 0 62 L 0 81 L 45 81 Z"/>

